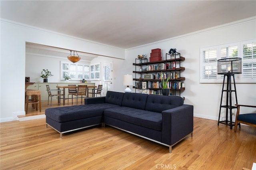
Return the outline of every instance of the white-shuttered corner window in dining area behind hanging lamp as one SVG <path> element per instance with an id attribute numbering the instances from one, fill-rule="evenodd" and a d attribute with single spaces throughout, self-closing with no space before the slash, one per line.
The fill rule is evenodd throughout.
<path id="1" fill-rule="evenodd" d="M 61 80 L 70 76 L 72 80 L 100 80 L 100 64 L 86 65 L 61 62 Z"/>

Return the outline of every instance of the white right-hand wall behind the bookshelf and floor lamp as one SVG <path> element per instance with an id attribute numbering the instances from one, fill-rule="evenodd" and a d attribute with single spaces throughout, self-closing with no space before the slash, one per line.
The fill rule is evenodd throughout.
<path id="1" fill-rule="evenodd" d="M 176 48 L 181 56 L 185 57 L 185 61 L 182 62 L 182 67 L 185 67 L 182 77 L 186 77 L 184 81 L 186 90 L 181 94 L 185 97 L 184 103 L 194 105 L 194 116 L 218 120 L 222 83 L 199 83 L 200 47 L 256 39 L 256 20 L 252 19 L 128 49 L 126 50 L 126 65 L 122 69 L 131 73 L 134 67 L 130 68 L 130 65 L 135 62 L 137 55 L 146 53 L 149 58 L 151 49 L 162 49 L 162 57 L 165 58 L 170 48 Z M 236 83 L 238 103 L 256 105 L 255 83 Z M 224 109 L 222 109 L 221 117 L 224 117 Z"/>

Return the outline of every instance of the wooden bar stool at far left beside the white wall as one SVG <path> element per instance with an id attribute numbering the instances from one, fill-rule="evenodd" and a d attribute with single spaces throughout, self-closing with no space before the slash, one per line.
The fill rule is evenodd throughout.
<path id="1" fill-rule="evenodd" d="M 29 96 L 31 96 L 31 100 L 29 100 Z M 40 90 L 31 90 L 28 89 L 25 95 L 26 105 L 25 112 L 28 113 L 28 104 L 32 104 L 33 108 L 36 108 L 38 111 L 38 103 L 39 103 L 39 111 L 41 112 L 41 91 Z"/>

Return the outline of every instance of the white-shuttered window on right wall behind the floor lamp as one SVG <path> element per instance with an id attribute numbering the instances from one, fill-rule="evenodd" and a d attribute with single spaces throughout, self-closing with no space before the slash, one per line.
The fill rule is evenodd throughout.
<path id="1" fill-rule="evenodd" d="M 256 42 L 242 42 L 200 48 L 200 83 L 222 83 L 224 75 L 218 75 L 218 59 L 242 58 L 242 74 L 235 74 L 236 83 L 256 82 Z M 221 68 L 225 69 L 226 68 Z"/>

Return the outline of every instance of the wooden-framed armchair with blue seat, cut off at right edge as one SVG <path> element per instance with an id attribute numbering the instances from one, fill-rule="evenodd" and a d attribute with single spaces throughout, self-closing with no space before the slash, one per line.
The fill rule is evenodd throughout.
<path id="1" fill-rule="evenodd" d="M 240 114 L 240 107 L 255 107 L 251 105 L 236 105 L 237 111 L 236 111 L 236 121 L 235 121 L 235 129 L 234 132 L 236 132 L 237 126 L 239 125 L 239 128 L 241 128 L 240 123 L 249 125 L 252 127 L 256 127 L 256 113 L 246 113 L 246 114 Z"/>

